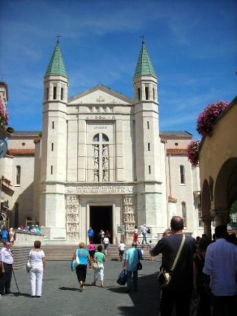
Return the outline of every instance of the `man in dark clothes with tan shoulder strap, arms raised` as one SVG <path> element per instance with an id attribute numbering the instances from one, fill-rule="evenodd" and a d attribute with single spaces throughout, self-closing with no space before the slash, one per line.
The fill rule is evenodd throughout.
<path id="1" fill-rule="evenodd" d="M 161 316 L 171 316 L 174 305 L 177 316 L 189 316 L 195 240 L 190 236 L 183 237 L 183 218 L 180 216 L 172 217 L 170 227 L 153 249 L 154 256 L 162 253 L 161 269 L 170 275 L 169 282 L 162 288 Z"/>

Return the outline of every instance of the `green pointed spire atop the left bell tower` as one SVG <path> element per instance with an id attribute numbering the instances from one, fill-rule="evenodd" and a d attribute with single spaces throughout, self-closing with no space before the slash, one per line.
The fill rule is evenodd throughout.
<path id="1" fill-rule="evenodd" d="M 59 41 L 56 42 L 56 47 L 50 59 L 49 65 L 45 72 L 45 76 L 48 75 L 61 75 L 67 77 L 66 68 L 63 62 L 63 56 L 60 51 Z"/>

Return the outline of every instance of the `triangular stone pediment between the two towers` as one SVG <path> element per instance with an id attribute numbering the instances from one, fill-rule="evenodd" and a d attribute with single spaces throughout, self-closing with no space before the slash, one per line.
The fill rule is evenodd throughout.
<path id="1" fill-rule="evenodd" d="M 102 84 L 88 89 L 69 98 L 69 105 L 73 104 L 133 104 L 133 99 L 122 93 L 103 86 Z"/>

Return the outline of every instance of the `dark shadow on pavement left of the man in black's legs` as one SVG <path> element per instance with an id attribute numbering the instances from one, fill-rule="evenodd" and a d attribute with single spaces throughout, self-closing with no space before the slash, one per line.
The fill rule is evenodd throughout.
<path id="1" fill-rule="evenodd" d="M 140 272 L 140 274 L 142 274 Z M 109 289 L 115 293 L 126 294 L 126 286 L 117 286 Z M 159 286 L 157 281 L 157 273 L 150 275 L 140 275 L 138 278 L 137 292 L 131 291 L 126 294 L 131 297 L 133 306 L 130 304 L 120 304 L 117 308 L 121 315 L 159 315 Z M 127 305 L 127 306 L 126 306 Z"/>

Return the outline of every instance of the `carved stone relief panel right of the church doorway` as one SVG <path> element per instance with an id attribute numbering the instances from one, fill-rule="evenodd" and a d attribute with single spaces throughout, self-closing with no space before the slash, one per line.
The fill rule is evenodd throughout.
<path id="1" fill-rule="evenodd" d="M 125 227 L 126 241 L 133 240 L 133 231 L 136 223 L 135 211 L 133 207 L 133 197 L 124 196 L 123 199 L 123 223 Z"/>

